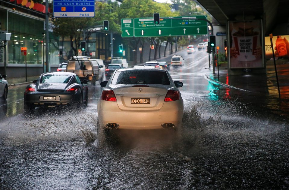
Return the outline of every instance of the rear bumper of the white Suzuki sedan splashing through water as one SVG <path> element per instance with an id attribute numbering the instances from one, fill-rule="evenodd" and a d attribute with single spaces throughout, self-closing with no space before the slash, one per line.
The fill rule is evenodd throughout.
<path id="1" fill-rule="evenodd" d="M 121 110 L 116 102 L 100 100 L 98 104 L 99 123 L 119 124 L 119 129 L 162 129 L 162 124 L 179 126 L 183 118 L 183 101 L 165 102 L 159 110 Z"/>

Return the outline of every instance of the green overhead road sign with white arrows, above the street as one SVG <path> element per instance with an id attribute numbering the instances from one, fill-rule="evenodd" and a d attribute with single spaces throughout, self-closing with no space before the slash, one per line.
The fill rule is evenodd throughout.
<path id="1" fill-rule="evenodd" d="M 207 27 L 207 18 L 203 15 L 163 17 L 160 18 L 160 24 L 154 24 L 153 18 L 121 19 L 121 36 L 125 38 L 206 35 Z"/>

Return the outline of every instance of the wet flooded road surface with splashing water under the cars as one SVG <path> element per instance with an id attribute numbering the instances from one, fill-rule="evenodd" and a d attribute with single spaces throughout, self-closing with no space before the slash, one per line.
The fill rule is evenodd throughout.
<path id="1" fill-rule="evenodd" d="M 125 131 L 102 143 L 99 85 L 89 85 L 83 110 L 37 109 L 28 118 L 25 86 L 10 89 L 1 104 L 0 189 L 288 189 L 288 118 L 262 95 L 206 80 L 205 51 L 181 54 L 185 65 L 170 71 L 184 83 L 177 140 L 168 131 Z"/>

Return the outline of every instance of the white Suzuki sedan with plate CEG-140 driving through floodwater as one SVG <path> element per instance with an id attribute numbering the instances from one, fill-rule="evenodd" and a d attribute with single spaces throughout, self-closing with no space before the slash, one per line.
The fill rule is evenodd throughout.
<path id="1" fill-rule="evenodd" d="M 97 109 L 99 136 L 118 129 L 181 128 L 184 103 L 178 88 L 183 83 L 173 81 L 168 71 L 118 69 L 100 85 L 104 89 Z"/>

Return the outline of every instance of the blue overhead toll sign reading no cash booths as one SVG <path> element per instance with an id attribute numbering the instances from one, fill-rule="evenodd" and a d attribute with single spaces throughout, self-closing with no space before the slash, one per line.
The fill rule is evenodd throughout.
<path id="1" fill-rule="evenodd" d="M 54 17 L 94 17 L 95 0 L 54 0 Z"/>

